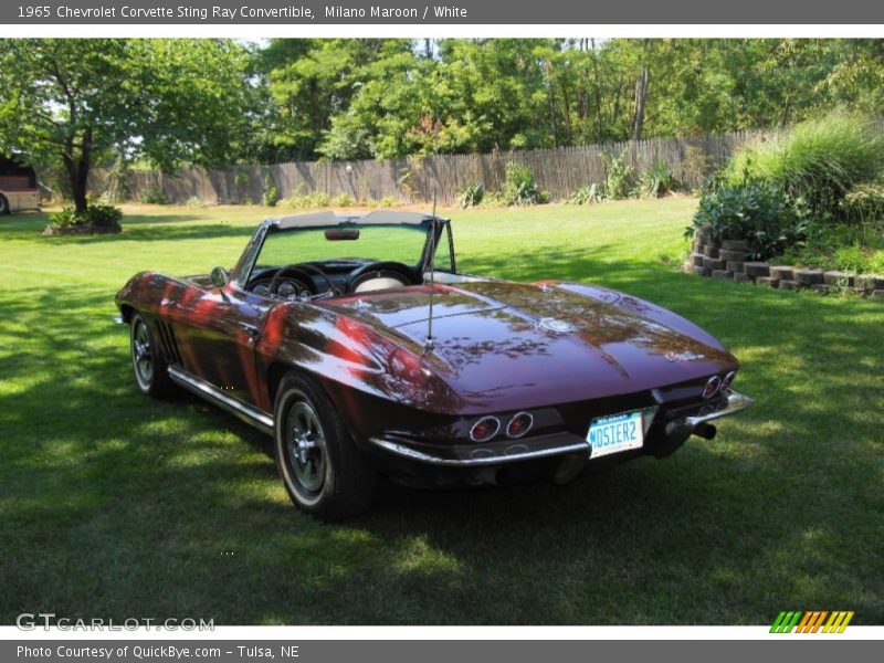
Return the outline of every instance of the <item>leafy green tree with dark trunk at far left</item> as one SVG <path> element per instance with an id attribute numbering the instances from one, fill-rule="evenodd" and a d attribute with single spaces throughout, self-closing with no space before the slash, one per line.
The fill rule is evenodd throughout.
<path id="1" fill-rule="evenodd" d="M 0 149 L 60 164 L 77 212 L 112 152 L 169 170 L 228 162 L 248 141 L 248 53 L 218 40 L 2 40 Z"/>

